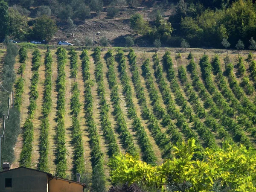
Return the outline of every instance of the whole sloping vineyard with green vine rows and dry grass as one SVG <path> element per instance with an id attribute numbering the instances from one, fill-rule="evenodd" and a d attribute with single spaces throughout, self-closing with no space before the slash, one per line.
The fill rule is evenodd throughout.
<path id="1" fill-rule="evenodd" d="M 119 153 L 155 166 L 190 138 L 198 159 L 224 142 L 256 147 L 256 61 L 252 53 L 226 55 L 20 47 L 12 168 L 80 173 L 104 191 Z"/>

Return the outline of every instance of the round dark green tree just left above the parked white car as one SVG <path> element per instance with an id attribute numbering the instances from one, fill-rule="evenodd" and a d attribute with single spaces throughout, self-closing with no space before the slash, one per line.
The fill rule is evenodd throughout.
<path id="1" fill-rule="evenodd" d="M 36 19 L 35 25 L 33 27 L 35 38 L 49 41 L 56 32 L 57 26 L 55 21 L 50 17 L 43 15 L 42 17 L 38 17 Z"/>

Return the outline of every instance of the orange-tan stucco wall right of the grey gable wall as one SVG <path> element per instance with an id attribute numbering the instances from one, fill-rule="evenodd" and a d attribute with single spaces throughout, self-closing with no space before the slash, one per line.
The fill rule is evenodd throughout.
<path id="1" fill-rule="evenodd" d="M 83 192 L 83 186 L 60 179 L 49 178 L 50 192 Z"/>

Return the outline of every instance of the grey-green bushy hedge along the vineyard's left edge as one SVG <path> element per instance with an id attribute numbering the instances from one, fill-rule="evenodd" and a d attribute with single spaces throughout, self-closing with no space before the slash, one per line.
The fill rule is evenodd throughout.
<path id="1" fill-rule="evenodd" d="M 1 68 L 1 84 L 8 90 L 13 90 L 13 85 L 16 80 L 16 73 L 14 70 L 15 58 L 18 54 L 18 47 L 15 44 L 8 43 L 6 47 L 6 54 L 3 58 L 3 67 Z M 17 82 L 17 81 L 16 81 Z M 21 82 L 20 82 L 21 83 Z M 22 88 L 22 86 L 21 86 Z M 15 89 L 15 94 L 17 90 Z M 11 93 L 3 90 L 0 86 L 0 116 L 3 114 L 7 117 L 8 103 L 7 99 L 11 97 Z M 16 97 L 16 96 L 15 96 Z M 2 162 L 12 163 L 15 160 L 14 148 L 17 143 L 17 137 L 20 133 L 20 111 L 15 107 L 9 111 L 9 120 L 6 119 L 5 125 L 5 142 L 2 138 Z M 3 134 L 3 129 L 1 130 Z"/>

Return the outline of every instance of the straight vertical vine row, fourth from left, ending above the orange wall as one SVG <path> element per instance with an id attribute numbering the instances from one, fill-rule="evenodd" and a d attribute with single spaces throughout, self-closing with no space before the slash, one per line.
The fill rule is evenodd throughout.
<path id="1" fill-rule="evenodd" d="M 67 171 L 67 148 L 65 146 L 65 65 L 67 63 L 66 49 L 59 47 L 57 49 L 58 58 L 58 78 L 57 78 L 57 128 L 56 128 L 56 176 L 66 177 Z"/>

